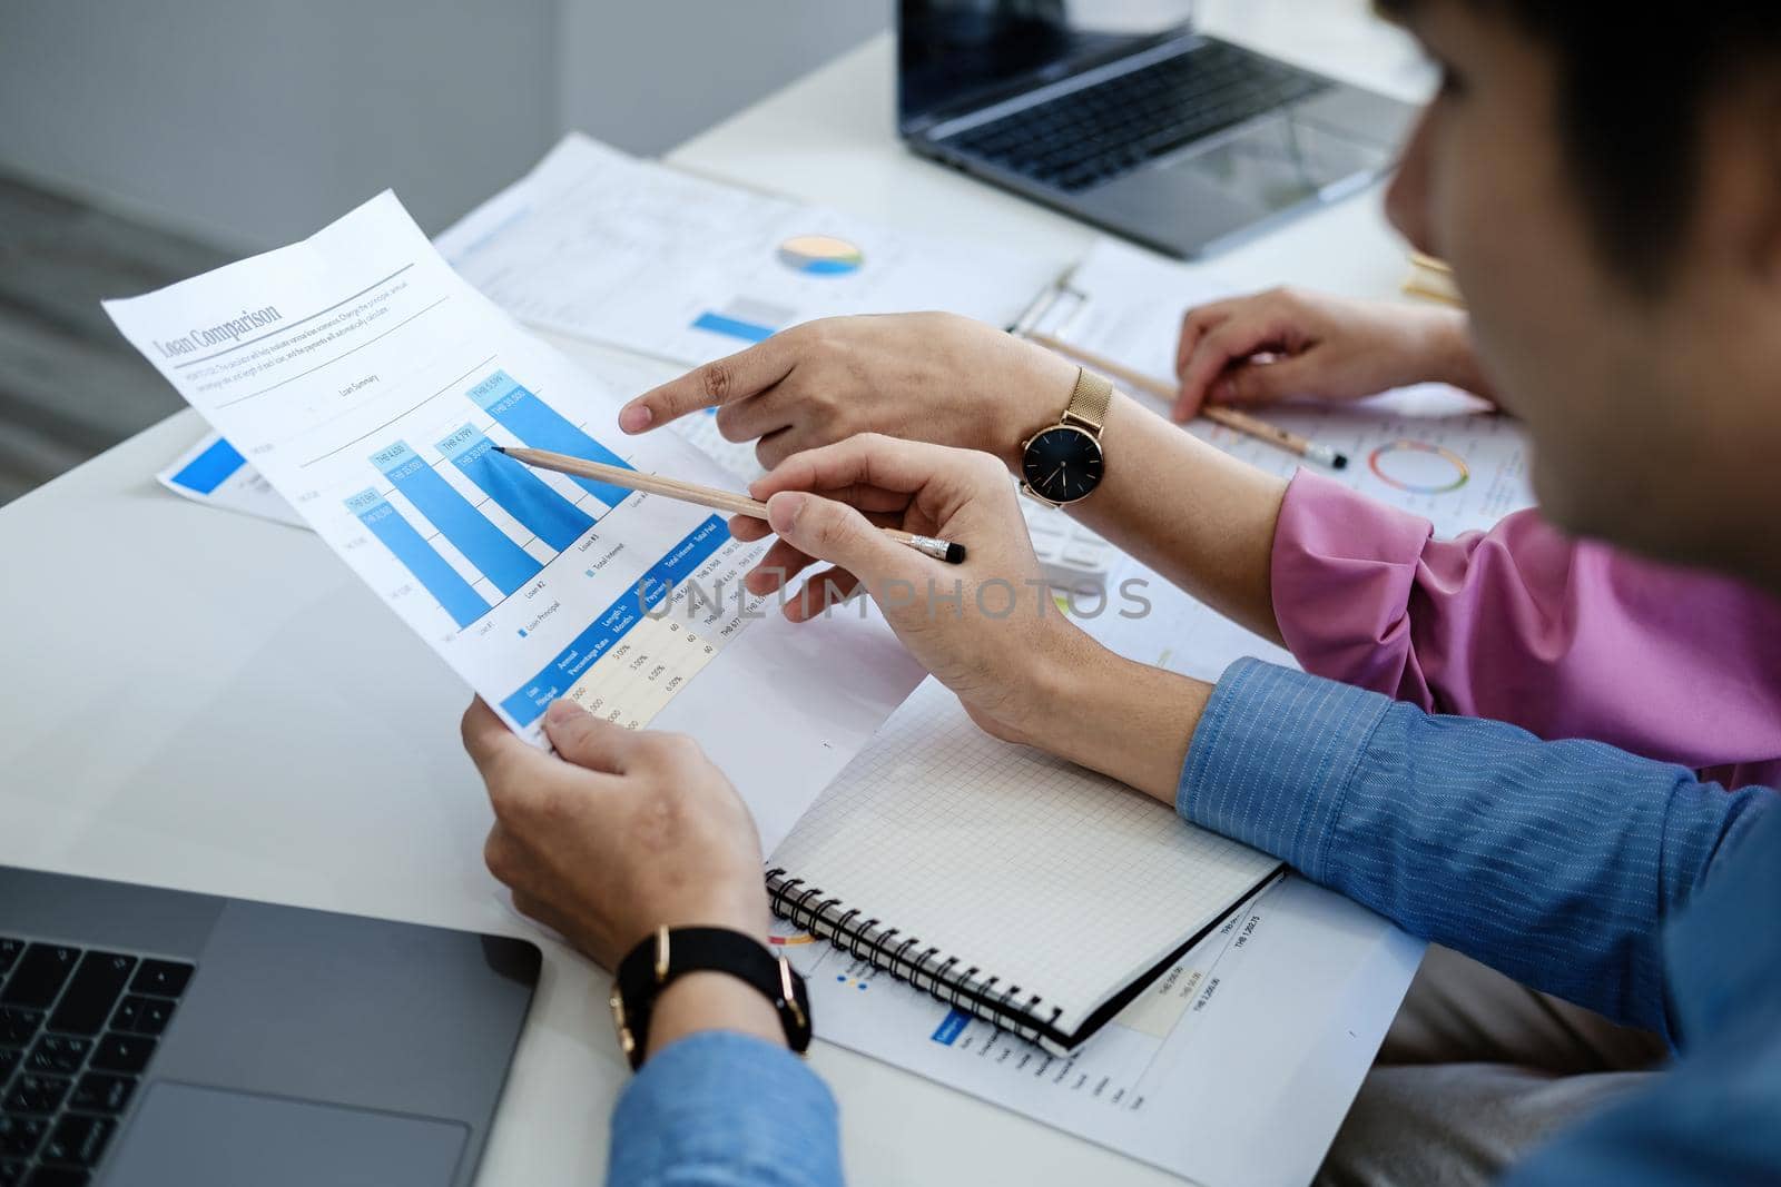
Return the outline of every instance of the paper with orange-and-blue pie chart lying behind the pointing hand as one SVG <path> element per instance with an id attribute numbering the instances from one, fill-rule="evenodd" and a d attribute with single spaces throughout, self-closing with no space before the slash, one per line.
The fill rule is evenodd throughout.
<path id="1" fill-rule="evenodd" d="M 524 322 L 684 365 L 796 322 L 947 310 L 1006 326 L 1053 269 L 627 157 L 570 135 L 438 237 Z"/>

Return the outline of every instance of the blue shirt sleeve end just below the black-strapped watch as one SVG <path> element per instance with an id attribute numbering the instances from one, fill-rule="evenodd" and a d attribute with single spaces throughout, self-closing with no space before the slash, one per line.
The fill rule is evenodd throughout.
<path id="1" fill-rule="evenodd" d="M 835 1100 L 784 1046 L 705 1030 L 650 1057 L 613 1110 L 607 1183 L 841 1183 Z"/>

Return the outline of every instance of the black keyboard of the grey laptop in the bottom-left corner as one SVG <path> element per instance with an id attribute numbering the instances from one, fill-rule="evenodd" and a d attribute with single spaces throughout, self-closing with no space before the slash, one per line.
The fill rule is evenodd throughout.
<path id="1" fill-rule="evenodd" d="M 0 1187 L 82 1187 L 192 966 L 0 936 Z"/>

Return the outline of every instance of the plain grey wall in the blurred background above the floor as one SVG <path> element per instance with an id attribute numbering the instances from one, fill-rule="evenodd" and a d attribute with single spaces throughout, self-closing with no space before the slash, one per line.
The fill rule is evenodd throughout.
<path id="1" fill-rule="evenodd" d="M 568 128 L 659 153 L 885 0 L 0 0 L 0 169 L 230 249 L 383 187 L 429 231 Z"/>

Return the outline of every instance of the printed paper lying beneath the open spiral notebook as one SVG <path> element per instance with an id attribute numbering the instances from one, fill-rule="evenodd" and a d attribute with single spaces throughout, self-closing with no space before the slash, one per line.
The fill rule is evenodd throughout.
<path id="1" fill-rule="evenodd" d="M 1288 877 L 1053 1055 L 785 922 L 771 940 L 819 1039 L 1222 1187 L 1311 1180 L 1421 956 Z"/>

